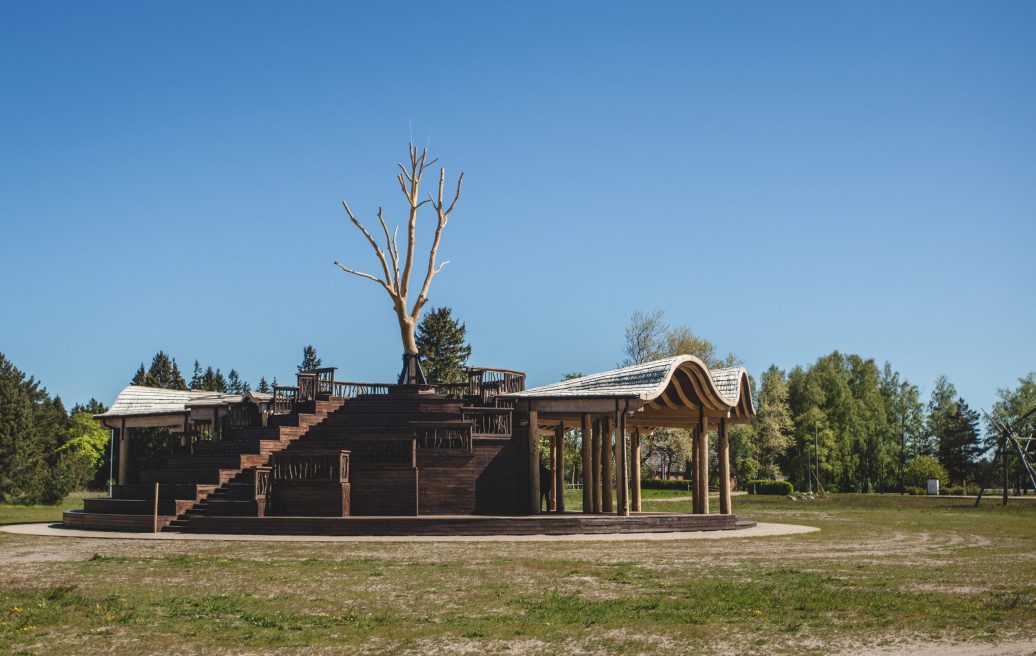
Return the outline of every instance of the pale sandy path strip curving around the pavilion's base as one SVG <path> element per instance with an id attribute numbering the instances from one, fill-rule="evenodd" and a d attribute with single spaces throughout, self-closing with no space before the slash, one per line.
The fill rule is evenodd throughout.
<path id="1" fill-rule="evenodd" d="M 697 531 L 673 533 L 606 533 L 584 535 L 529 536 L 254 536 L 198 535 L 192 533 L 121 533 L 115 531 L 76 531 L 60 523 L 10 524 L 0 531 L 48 538 L 89 538 L 94 540 L 207 540 L 220 542 L 656 542 L 669 540 L 722 540 L 726 538 L 766 538 L 819 531 L 813 526 L 784 523 L 757 523 L 737 531 Z"/>

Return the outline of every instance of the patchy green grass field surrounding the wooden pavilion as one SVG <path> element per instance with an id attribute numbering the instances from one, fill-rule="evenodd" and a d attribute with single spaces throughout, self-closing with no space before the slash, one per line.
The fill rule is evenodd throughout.
<path id="1" fill-rule="evenodd" d="M 652 491 L 645 510 L 689 503 Z M 822 531 L 679 542 L 0 533 L 0 653 L 1036 653 L 1036 503 L 973 503 L 737 496 L 740 516 Z"/>

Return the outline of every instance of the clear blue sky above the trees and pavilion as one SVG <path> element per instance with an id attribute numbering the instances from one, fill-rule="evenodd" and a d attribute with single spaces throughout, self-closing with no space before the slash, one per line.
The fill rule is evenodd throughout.
<path id="1" fill-rule="evenodd" d="M 384 292 L 332 262 L 375 269 L 340 202 L 402 219 L 412 124 L 466 172 L 431 301 L 476 364 L 607 369 L 663 308 L 751 372 L 837 348 L 988 406 L 1036 369 L 1034 33 L 1032 2 L 4 2 L 0 351 L 69 405 L 159 349 L 392 379 Z"/>

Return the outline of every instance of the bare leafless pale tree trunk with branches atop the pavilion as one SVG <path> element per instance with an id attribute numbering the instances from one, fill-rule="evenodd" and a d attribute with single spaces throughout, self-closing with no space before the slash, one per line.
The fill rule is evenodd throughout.
<path id="1" fill-rule="evenodd" d="M 367 280 L 373 281 L 380 285 L 385 292 L 387 292 L 390 298 L 392 298 L 393 310 L 396 312 L 396 319 L 399 321 L 400 335 L 403 339 L 403 358 L 405 362 L 412 361 L 413 366 L 416 367 L 416 355 L 418 355 L 418 342 L 414 338 L 414 330 L 418 322 L 421 319 L 421 311 L 428 302 L 428 289 L 432 284 L 432 279 L 438 275 L 442 267 L 449 263 L 444 261 L 440 264 L 436 264 L 435 257 L 439 251 L 439 241 L 442 238 L 442 230 L 447 227 L 447 221 L 450 219 L 450 215 L 453 213 L 454 207 L 457 206 L 457 201 L 460 199 L 461 184 L 464 181 L 464 174 L 461 173 L 460 177 L 457 178 L 457 191 L 454 193 L 453 200 L 450 201 L 448 205 L 443 197 L 445 189 L 447 173 L 445 169 L 439 168 L 439 186 L 438 193 L 435 196 L 431 194 L 428 198 L 421 198 L 421 179 L 425 174 L 425 170 L 431 166 L 434 166 L 438 160 L 428 161 L 428 149 L 425 148 L 418 151 L 416 146 L 413 143 L 409 144 L 409 166 L 403 166 L 402 163 L 399 164 L 400 173 L 396 176 L 399 181 L 400 191 L 403 192 L 403 197 L 406 198 L 406 202 L 409 205 L 409 215 L 406 222 L 406 244 L 404 245 L 403 253 L 400 253 L 399 249 L 399 226 L 390 233 L 388 226 L 385 224 L 382 208 L 378 207 L 377 218 L 378 223 L 381 225 L 381 231 L 384 235 L 384 247 L 378 245 L 377 240 L 371 236 L 371 233 L 364 227 L 362 223 L 356 219 L 355 215 L 352 213 L 352 209 L 349 208 L 349 203 L 342 202 L 342 206 L 345 207 L 345 213 L 348 215 L 349 221 L 352 225 L 356 226 L 367 239 L 367 243 L 371 245 L 374 249 L 374 254 L 378 258 L 378 263 L 381 265 L 381 277 L 372 276 L 371 274 L 365 274 L 364 272 L 350 268 L 343 265 L 340 262 L 335 262 L 335 264 L 347 274 L 352 274 L 353 276 L 358 276 L 361 278 L 366 278 Z M 435 224 L 435 236 L 432 239 L 432 246 L 428 250 L 428 266 L 425 270 L 424 281 L 422 282 L 420 291 L 418 292 L 416 298 L 413 301 L 413 305 L 410 305 L 410 278 L 413 274 L 413 269 L 418 264 L 414 261 L 414 254 L 416 250 L 416 233 L 418 233 L 418 213 L 419 210 L 426 203 L 430 204 L 432 209 L 435 211 L 436 224 Z M 420 372 L 420 368 L 416 368 Z M 407 373 L 406 366 L 404 365 L 404 376 Z M 419 377 L 420 373 L 416 374 Z M 401 382 L 419 382 L 416 379 L 404 380 L 401 376 Z M 424 382 L 420 380 L 420 382 Z"/>

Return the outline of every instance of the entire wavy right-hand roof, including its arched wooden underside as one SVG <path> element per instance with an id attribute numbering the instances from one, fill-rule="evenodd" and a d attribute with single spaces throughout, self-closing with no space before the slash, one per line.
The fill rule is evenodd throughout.
<path id="1" fill-rule="evenodd" d="M 694 355 L 674 355 L 642 365 L 562 380 L 509 395 L 529 400 L 632 399 L 645 409 L 697 411 L 748 419 L 755 413 L 744 367 L 712 369 Z"/>

